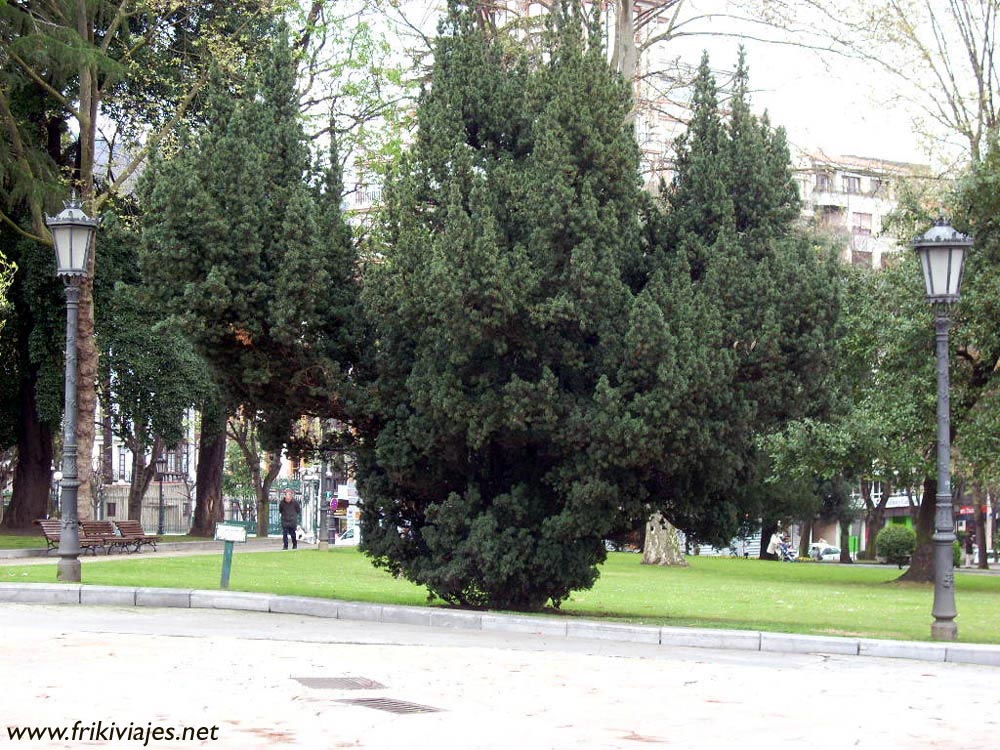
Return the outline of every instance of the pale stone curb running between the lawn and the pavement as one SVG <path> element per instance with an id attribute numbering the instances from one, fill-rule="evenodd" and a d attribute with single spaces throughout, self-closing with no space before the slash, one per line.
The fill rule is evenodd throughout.
<path id="1" fill-rule="evenodd" d="M 242 591 L 0 582 L 0 603 L 2 602 L 235 609 L 421 627 L 647 643 L 668 648 L 837 654 L 1000 667 L 1000 646 L 973 643 L 880 641 L 870 638 L 838 638 L 751 630 L 625 625 L 576 618 L 525 617 L 457 609 L 368 604 L 307 596 L 253 594 Z"/>

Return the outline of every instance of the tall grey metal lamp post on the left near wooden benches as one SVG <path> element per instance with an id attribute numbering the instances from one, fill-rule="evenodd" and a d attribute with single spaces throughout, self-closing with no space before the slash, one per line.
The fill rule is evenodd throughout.
<path id="1" fill-rule="evenodd" d="M 63 463 L 60 480 L 60 506 L 62 522 L 59 535 L 59 564 L 56 577 L 60 581 L 80 582 L 80 528 L 77 512 L 76 448 L 76 334 L 80 314 L 80 289 L 87 277 L 90 254 L 98 219 L 92 219 L 80 208 L 74 195 L 64 203 L 65 208 L 56 216 L 46 216 L 45 223 L 52 232 L 56 250 L 56 275 L 66 284 L 66 377 L 65 413 L 63 418 Z"/>

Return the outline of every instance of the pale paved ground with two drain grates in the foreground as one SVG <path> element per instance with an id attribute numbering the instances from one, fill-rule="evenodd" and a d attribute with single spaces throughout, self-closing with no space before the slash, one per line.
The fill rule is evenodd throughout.
<path id="1" fill-rule="evenodd" d="M 0 638 L 0 748 L 1000 747 L 996 667 L 132 607 L 3 604 Z M 300 681 L 342 677 L 384 687 Z M 137 739 L 185 727 L 205 739 Z"/>

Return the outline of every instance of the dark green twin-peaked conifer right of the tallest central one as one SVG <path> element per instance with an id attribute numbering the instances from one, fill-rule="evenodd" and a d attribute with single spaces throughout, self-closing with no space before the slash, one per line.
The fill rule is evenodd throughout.
<path id="1" fill-rule="evenodd" d="M 728 117 L 717 99 L 706 56 L 665 215 L 650 225 L 648 268 L 686 269 L 697 315 L 672 319 L 696 332 L 701 370 L 689 399 L 699 408 L 671 422 L 690 430 L 679 446 L 690 460 L 655 478 L 649 495 L 675 525 L 724 542 L 742 519 L 792 507 L 778 497 L 787 488 L 762 485 L 770 468 L 759 440 L 828 410 L 840 287 L 834 254 L 795 228 L 784 133 L 751 114 L 742 54 Z"/>

